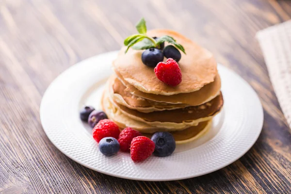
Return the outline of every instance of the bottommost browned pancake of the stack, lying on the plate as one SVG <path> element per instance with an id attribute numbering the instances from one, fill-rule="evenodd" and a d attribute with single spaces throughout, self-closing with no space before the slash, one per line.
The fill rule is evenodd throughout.
<path id="1" fill-rule="evenodd" d="M 186 144 L 192 142 L 202 135 L 204 135 L 211 128 L 212 121 L 204 121 L 199 123 L 197 126 L 193 126 L 180 131 L 172 131 L 170 132 L 176 144 Z M 143 133 L 144 136 L 151 138 L 152 134 Z"/>

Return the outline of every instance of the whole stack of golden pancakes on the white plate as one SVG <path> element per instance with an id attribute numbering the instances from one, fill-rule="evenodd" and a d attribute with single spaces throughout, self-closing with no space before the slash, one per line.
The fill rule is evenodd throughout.
<path id="1" fill-rule="evenodd" d="M 142 63 L 144 50 L 129 49 L 125 54 L 126 48 L 122 48 L 101 100 L 103 111 L 122 129 L 131 127 L 147 136 L 169 131 L 178 144 L 190 142 L 210 128 L 211 119 L 222 109 L 217 63 L 208 50 L 177 32 L 153 30 L 147 34 L 169 35 L 184 46 L 187 54 L 181 53 L 178 62 L 181 83 L 173 87 L 160 81 L 154 69 Z"/>

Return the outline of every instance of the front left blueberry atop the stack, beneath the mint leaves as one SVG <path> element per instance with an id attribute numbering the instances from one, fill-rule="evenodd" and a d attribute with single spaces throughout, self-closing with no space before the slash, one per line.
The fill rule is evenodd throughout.
<path id="1" fill-rule="evenodd" d="M 162 50 L 150 48 L 146 49 L 142 54 L 142 61 L 145 65 L 155 67 L 159 62 L 162 62 L 163 54 Z"/>

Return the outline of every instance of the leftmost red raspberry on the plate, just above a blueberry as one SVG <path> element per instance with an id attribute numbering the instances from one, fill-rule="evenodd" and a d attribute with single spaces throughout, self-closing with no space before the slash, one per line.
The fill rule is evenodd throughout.
<path id="1" fill-rule="evenodd" d="M 113 121 L 103 119 L 94 127 L 93 138 L 99 143 L 104 137 L 114 137 L 118 139 L 119 133 L 119 128 Z"/>

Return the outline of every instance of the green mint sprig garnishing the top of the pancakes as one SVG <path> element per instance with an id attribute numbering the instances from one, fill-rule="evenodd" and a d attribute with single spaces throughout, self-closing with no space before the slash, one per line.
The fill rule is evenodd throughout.
<path id="1" fill-rule="evenodd" d="M 182 45 L 178 44 L 176 40 L 168 35 L 159 37 L 157 40 L 146 35 L 146 20 L 142 18 L 136 25 L 136 30 L 139 34 L 133 34 L 124 40 L 124 45 L 127 46 L 125 53 L 131 47 L 136 50 L 160 48 L 163 42 L 168 42 L 175 45 L 178 49 L 185 53 L 185 49 Z M 186 54 L 186 53 L 185 53 Z"/>

